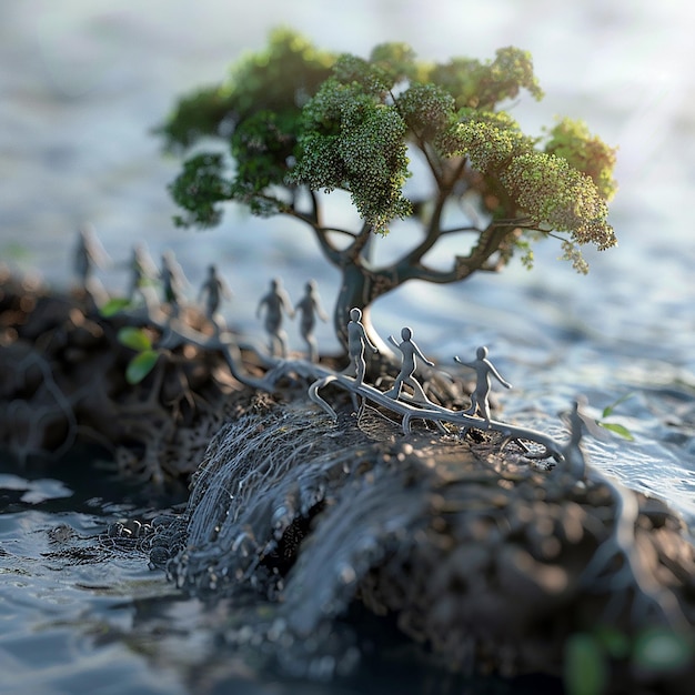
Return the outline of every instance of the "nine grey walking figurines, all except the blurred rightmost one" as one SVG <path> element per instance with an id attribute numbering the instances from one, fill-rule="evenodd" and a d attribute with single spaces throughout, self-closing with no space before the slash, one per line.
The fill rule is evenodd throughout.
<path id="1" fill-rule="evenodd" d="M 98 283 L 93 278 L 95 266 L 102 266 L 107 259 L 105 252 L 101 249 L 90 228 L 80 230 L 78 248 L 75 252 L 75 271 L 78 280 L 83 289 L 92 294 L 98 293 Z M 137 303 L 139 300 L 144 301 L 148 308 L 159 304 L 155 289 L 161 286 L 163 302 L 169 306 L 170 318 L 179 316 L 180 309 L 183 305 L 184 290 L 190 286 L 181 265 L 174 258 L 172 251 L 165 251 L 162 254 L 161 268 L 158 269 L 143 244 L 138 244 L 133 249 L 132 259 L 129 263 L 130 269 L 130 288 L 128 300 Z M 220 304 L 223 300 L 230 300 L 232 292 L 226 282 L 220 275 L 216 266 L 211 264 L 208 266 L 208 275 L 202 283 L 198 301 L 204 302 L 204 313 L 216 331 L 224 328 L 224 321 L 219 313 Z M 328 321 L 328 314 L 321 305 L 316 283 L 313 280 L 306 282 L 304 295 L 295 304 L 292 305 L 288 292 L 282 286 L 279 279 L 270 282 L 269 291 L 261 298 L 256 316 L 264 314 L 264 328 L 269 335 L 269 351 L 271 356 L 288 356 L 288 335 L 283 330 L 283 318 L 288 315 L 293 319 L 300 314 L 300 333 L 306 343 L 308 359 L 311 362 L 319 360 L 319 351 L 314 329 L 316 325 L 316 316 L 322 321 Z M 412 329 L 405 326 L 401 331 L 401 342 L 396 341 L 393 335 L 389 336 L 389 342 L 401 352 L 402 362 L 401 370 L 393 383 L 393 386 L 384 393 L 384 395 L 397 400 L 401 396 L 402 389 L 407 385 L 412 389 L 413 395 L 411 401 L 427 403 L 429 400 L 413 374 L 417 367 L 417 360 L 422 360 L 427 366 L 434 366 L 422 353 L 415 341 L 413 340 Z M 354 370 L 355 385 L 361 386 L 366 372 L 366 362 L 364 359 L 365 350 L 371 350 L 374 354 L 379 351 L 370 341 L 364 325 L 362 324 L 362 311 L 354 308 L 350 312 L 350 322 L 348 324 L 348 352 L 350 364 L 346 372 Z M 479 348 L 476 359 L 473 362 L 463 362 L 459 356 L 454 360 L 475 371 L 476 386 L 471 396 L 471 407 L 465 411 L 467 414 L 480 415 L 490 421 L 490 391 L 492 386 L 492 377 L 496 379 L 504 387 L 511 389 L 511 384 L 505 381 L 492 362 L 487 359 L 487 348 Z"/>

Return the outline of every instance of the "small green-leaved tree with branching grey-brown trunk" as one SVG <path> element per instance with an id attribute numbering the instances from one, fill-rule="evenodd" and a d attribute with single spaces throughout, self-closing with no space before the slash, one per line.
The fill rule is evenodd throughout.
<path id="1" fill-rule="evenodd" d="M 568 119 L 542 138 L 525 134 L 502 109 L 522 90 L 543 95 L 530 54 L 512 47 L 487 62 L 430 64 L 403 43 L 377 46 L 363 59 L 278 30 L 226 81 L 181 99 L 158 129 L 169 150 L 190 152 L 213 138 L 231 154 L 194 151 L 184 161 L 170 187 L 183 211 L 175 221 L 219 224 L 222 204 L 233 201 L 306 224 L 342 270 L 334 321 L 343 344 L 353 306 L 383 345 L 369 320 L 379 296 L 409 280 L 450 283 L 498 271 L 517 252 L 531 265 L 531 243 L 544 236 L 560 239 L 564 258 L 585 273 L 582 245 L 616 243 L 607 223 L 615 150 Z M 430 190 L 409 198 L 415 160 Z M 359 229 L 326 222 L 334 191 L 350 194 Z M 462 222 L 464 201 L 476 211 L 472 222 Z M 421 226 L 420 240 L 375 265 L 370 240 L 406 218 Z M 427 252 L 453 234 L 463 239 L 461 254 L 443 270 L 429 264 Z"/>

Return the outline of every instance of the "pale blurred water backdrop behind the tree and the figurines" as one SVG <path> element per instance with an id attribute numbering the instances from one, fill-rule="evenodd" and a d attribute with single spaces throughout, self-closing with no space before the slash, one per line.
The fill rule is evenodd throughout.
<path id="1" fill-rule="evenodd" d="M 222 80 L 281 24 L 364 56 L 391 40 L 432 60 L 487 60 L 517 46 L 533 54 L 546 92 L 514 105 L 524 129 L 540 133 L 566 114 L 620 148 L 611 214 L 620 246 L 590 253 L 584 278 L 546 241 L 531 272 L 514 263 L 460 285 L 405 285 L 377 302 L 375 323 L 384 336 L 412 325 L 420 346 L 444 364 L 487 344 L 517 386 L 504 394 L 510 414 L 554 417 L 578 391 L 600 407 L 636 391 L 623 414 L 644 437 L 644 455 L 657 442 L 666 473 L 639 467 L 628 477 L 648 487 L 661 475 L 658 491 L 693 512 L 694 19 L 679 0 L 4 0 L 0 255 L 68 286 L 77 230 L 89 222 L 112 260 L 101 273 L 112 292 L 124 291 L 125 263 L 144 240 L 155 260 L 174 251 L 191 296 L 214 259 L 234 292 L 228 322 L 262 338 L 253 314 L 270 278 L 281 275 L 294 301 L 316 279 L 330 309 L 338 274 L 311 234 L 282 219 L 230 210 L 212 231 L 173 226 L 167 184 L 180 161 L 163 157 L 150 131 L 175 98 Z M 329 325 L 319 339 L 335 349 Z M 636 456 L 629 451 L 621 462 Z"/>

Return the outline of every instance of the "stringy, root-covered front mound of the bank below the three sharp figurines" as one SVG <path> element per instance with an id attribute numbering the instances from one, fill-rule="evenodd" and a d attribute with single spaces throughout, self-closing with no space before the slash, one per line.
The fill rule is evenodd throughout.
<path id="1" fill-rule="evenodd" d="M 674 617 L 687 641 L 695 553 L 677 516 L 635 495 L 645 593 L 620 553 L 604 553 L 610 491 L 497 444 L 406 436 L 375 411 L 343 410 L 334 424 L 303 403 L 268 405 L 213 439 L 152 556 L 193 595 L 253 587 L 281 602 L 280 625 L 265 628 L 291 642 L 359 602 L 456 669 L 560 675 L 575 635 L 610 628 L 631 644 Z M 629 649 L 611 662 L 634 688 L 685 693 L 694 673 L 649 673 Z"/>

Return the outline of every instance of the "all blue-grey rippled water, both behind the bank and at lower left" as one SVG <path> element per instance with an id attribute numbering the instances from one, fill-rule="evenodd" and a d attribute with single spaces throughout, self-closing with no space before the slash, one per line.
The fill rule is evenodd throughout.
<path id="1" fill-rule="evenodd" d="M 230 60 L 261 47 L 280 23 L 326 48 L 362 53 L 384 40 L 409 41 L 433 59 L 526 48 L 546 98 L 515 107 L 522 124 L 537 131 L 566 113 L 620 145 L 621 191 L 612 205 L 620 248 L 592 254 L 587 278 L 556 262 L 560 250 L 547 242 L 537 246 L 531 273 L 514 265 L 457 286 L 406 285 L 377 302 L 375 323 L 384 336 L 407 323 L 444 364 L 488 345 L 515 386 L 500 394 L 505 416 L 536 426 L 558 429 L 558 411 L 577 393 L 597 415 L 631 394 L 612 420 L 635 441 L 593 442 L 592 460 L 666 497 L 693 524 L 695 243 L 687 211 L 695 184 L 695 10 L 676 0 L 437 0 L 434 9 L 424 0 L 355 0 L 349 9 L 298 0 L 289 7 L 276 0 L 252 7 L 149 0 L 137 9 L 108 0 L 2 2 L 2 259 L 63 286 L 84 221 L 113 261 L 101 278 L 115 292 L 127 286 L 123 263 L 141 238 L 154 258 L 173 249 L 192 288 L 214 258 L 234 291 L 229 323 L 260 338 L 253 311 L 270 278 L 281 274 L 296 299 L 313 276 L 328 305 L 338 275 L 321 262 L 309 232 L 282 220 L 231 210 L 219 230 L 173 228 L 165 184 L 178 162 L 162 158 L 148 134 L 173 97 L 221 79 Z M 389 253 L 395 234 L 377 253 Z M 447 254 L 435 260 L 445 263 Z M 334 349 L 329 328 L 319 339 Z M 2 461 L 1 693 L 183 693 L 203 682 L 211 692 L 220 683 L 240 693 L 291 692 L 282 677 L 254 673 L 248 655 L 215 656 L 214 616 L 150 572 L 143 556 L 94 562 L 88 540 L 80 542 L 85 562 L 52 555 L 51 528 L 67 524 L 92 536 L 142 510 L 141 502 L 123 503 L 121 490 L 95 491 L 99 475 L 85 487 L 62 467 L 37 477 Z M 374 687 L 377 682 L 373 676 Z"/>

